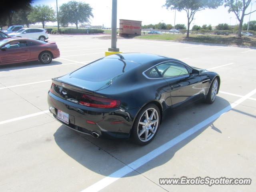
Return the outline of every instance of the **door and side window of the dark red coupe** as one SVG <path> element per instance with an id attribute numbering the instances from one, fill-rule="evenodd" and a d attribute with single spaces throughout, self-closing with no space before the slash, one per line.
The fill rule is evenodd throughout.
<path id="1" fill-rule="evenodd" d="M 2 49 L 6 47 L 6 49 Z M 0 62 L 2 64 L 24 62 L 29 59 L 30 51 L 26 40 L 16 40 L 1 47 Z"/>

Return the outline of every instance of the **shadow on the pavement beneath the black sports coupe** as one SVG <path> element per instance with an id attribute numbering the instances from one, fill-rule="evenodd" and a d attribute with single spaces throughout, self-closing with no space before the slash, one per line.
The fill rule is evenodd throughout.
<path id="1" fill-rule="evenodd" d="M 98 174 L 108 176 L 122 166 L 125 166 L 125 164 L 134 162 L 227 106 L 230 106 L 227 100 L 217 97 L 216 101 L 211 105 L 196 103 L 168 112 L 162 121 L 158 134 L 154 140 L 146 146 L 137 146 L 130 140 L 108 140 L 81 135 L 64 125 L 60 126 L 54 133 L 54 139 L 56 144 L 68 154 L 68 156 L 76 160 L 82 166 Z M 218 132 L 218 134 L 222 134 L 222 128 L 214 126 L 214 122 L 211 122 L 198 130 L 198 132 L 188 136 L 163 154 L 157 156 L 154 159 L 154 164 L 147 163 L 142 166 L 139 172 L 146 172 L 170 161 L 178 150 L 196 138 L 208 127 Z M 128 174 L 127 177 L 136 174 L 138 174 L 138 172 L 132 172 Z"/>

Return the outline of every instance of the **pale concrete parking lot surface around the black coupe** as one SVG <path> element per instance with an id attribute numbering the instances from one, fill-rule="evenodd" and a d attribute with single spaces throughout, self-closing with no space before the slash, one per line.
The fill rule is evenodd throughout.
<path id="1" fill-rule="evenodd" d="M 104 56 L 99 35 L 50 35 L 60 58 L 0 66 L 0 191 L 256 190 L 256 48 L 118 39 L 122 52 L 180 59 L 220 74 L 213 104 L 170 112 L 154 140 L 136 146 L 78 134 L 48 111 L 51 78 Z M 159 178 L 251 178 L 251 185 L 160 185 Z"/>

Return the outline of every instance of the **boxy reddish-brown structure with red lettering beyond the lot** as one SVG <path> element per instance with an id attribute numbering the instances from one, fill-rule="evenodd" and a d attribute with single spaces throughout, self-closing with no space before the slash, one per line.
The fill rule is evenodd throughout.
<path id="1" fill-rule="evenodd" d="M 141 21 L 120 19 L 119 35 L 141 35 Z"/>

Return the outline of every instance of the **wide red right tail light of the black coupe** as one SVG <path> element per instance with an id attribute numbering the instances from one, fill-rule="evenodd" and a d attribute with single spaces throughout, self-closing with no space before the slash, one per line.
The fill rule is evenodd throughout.
<path id="1" fill-rule="evenodd" d="M 79 104 L 93 108 L 116 108 L 120 101 L 83 94 Z"/>

